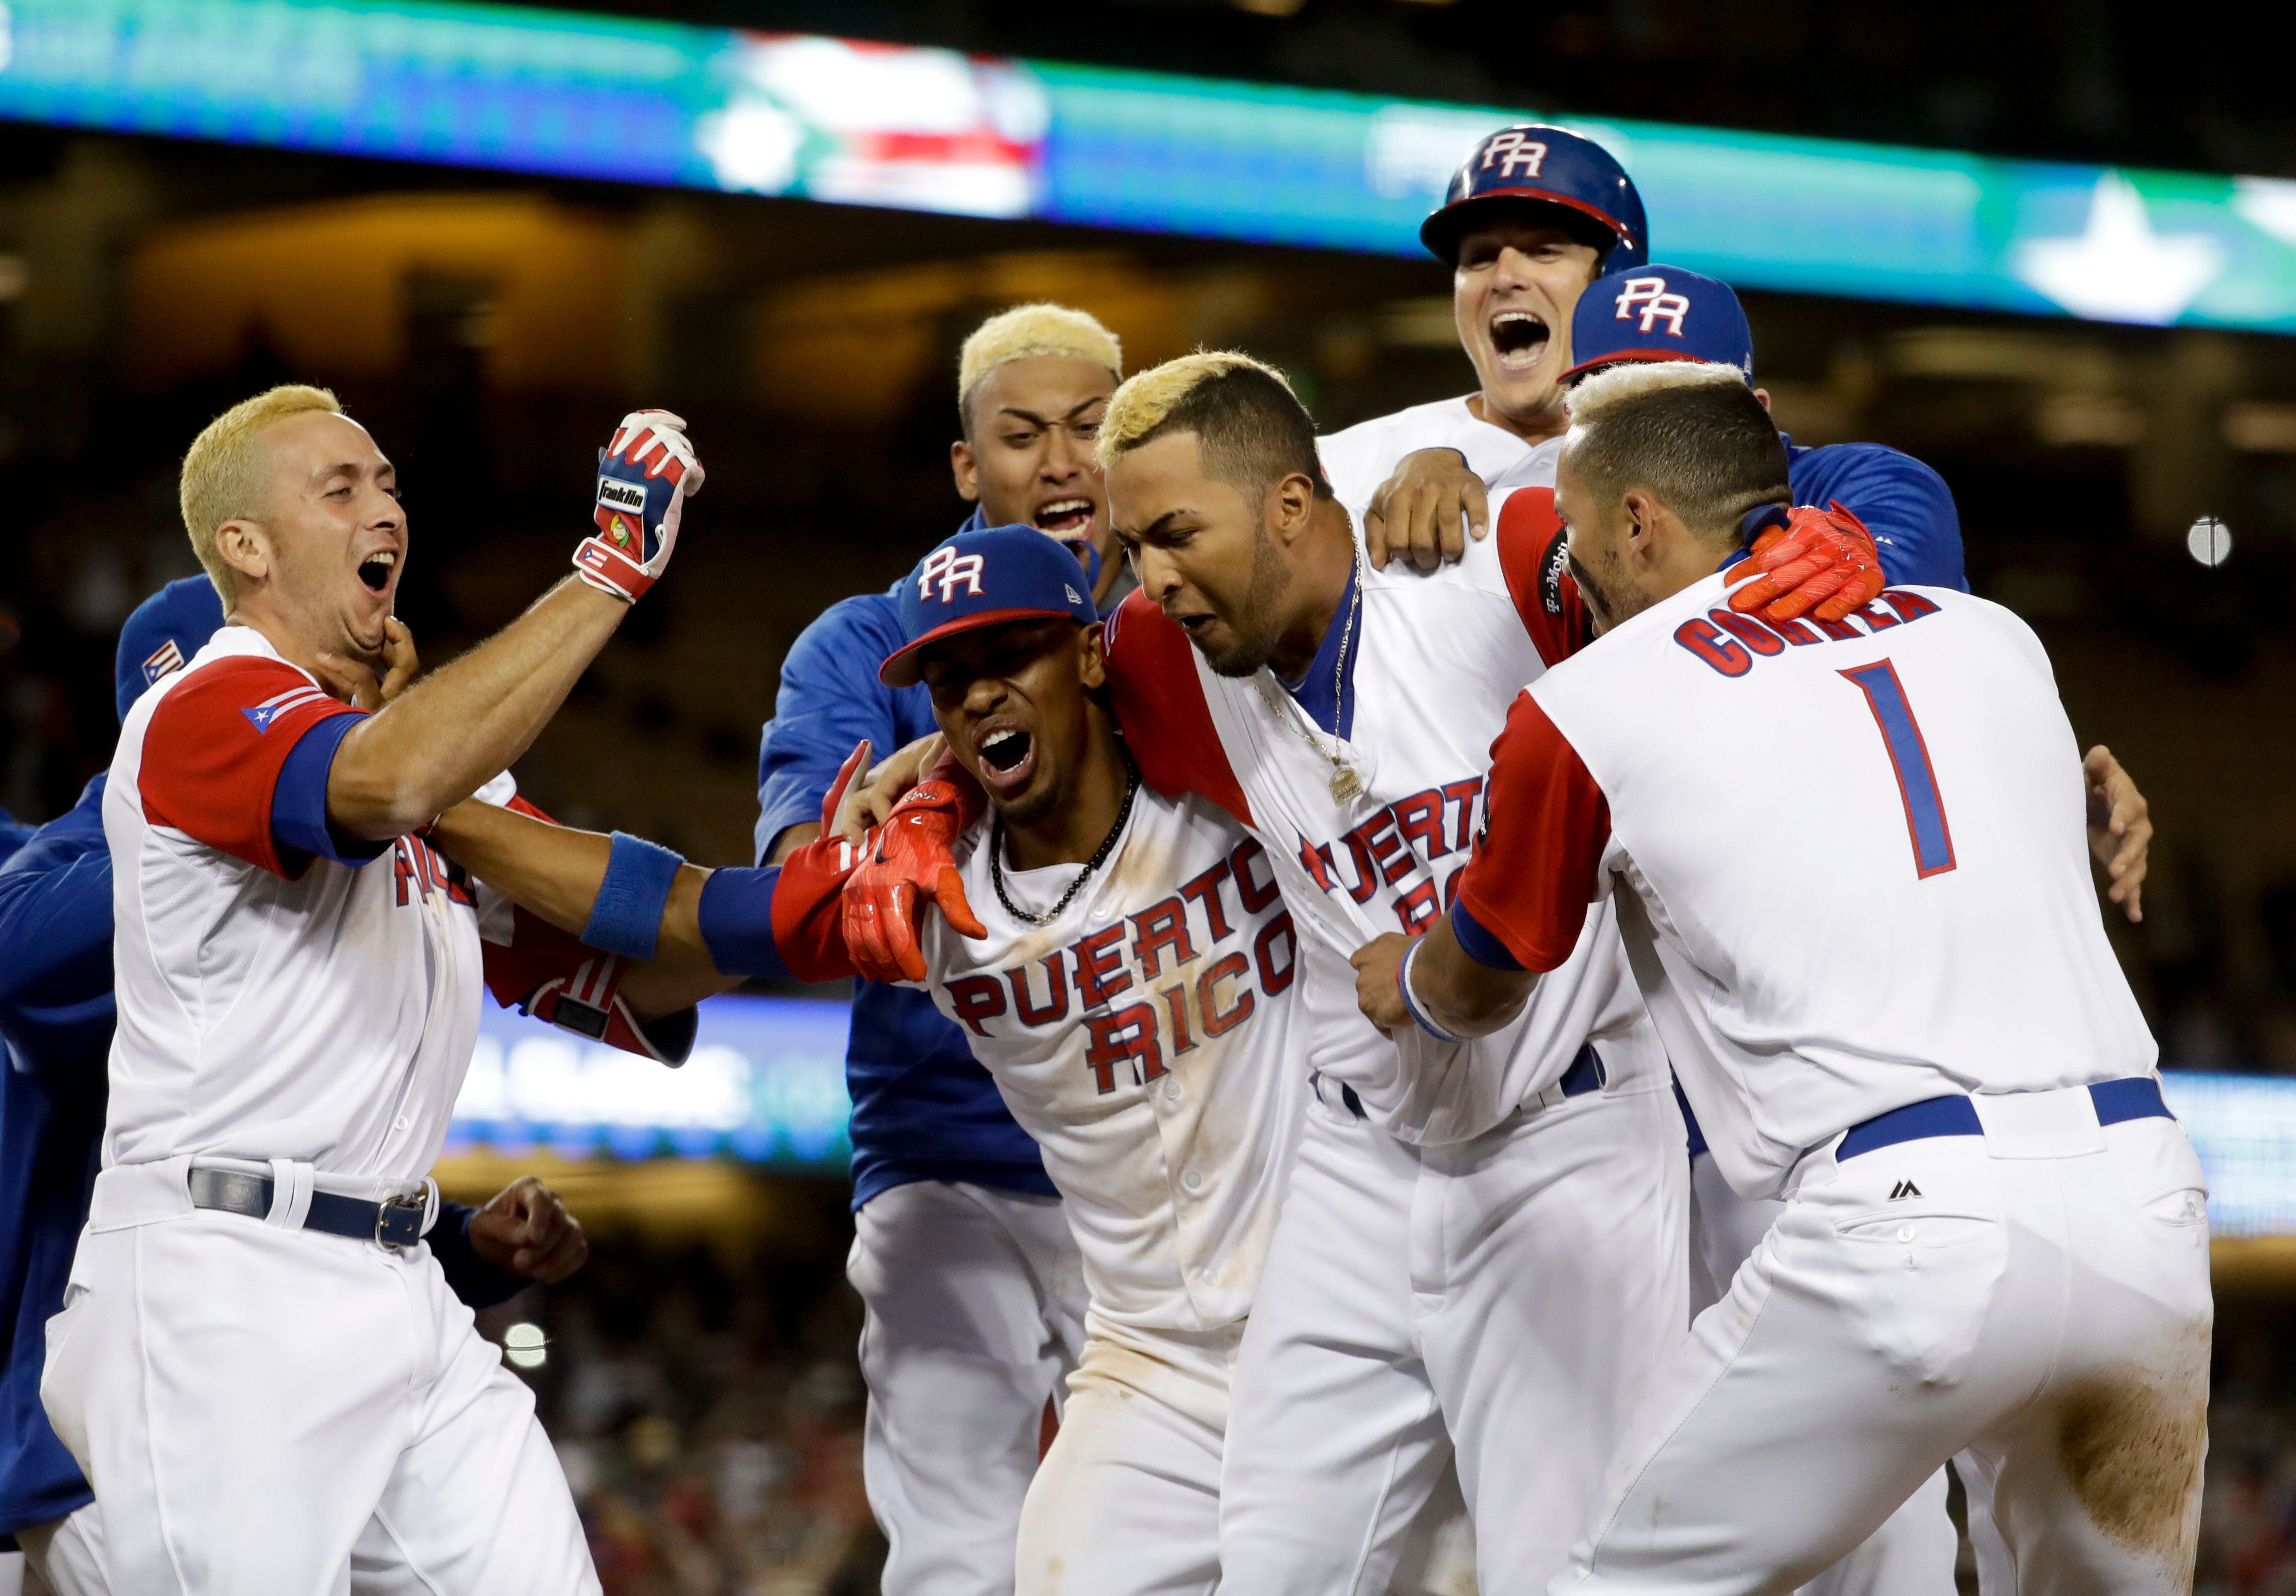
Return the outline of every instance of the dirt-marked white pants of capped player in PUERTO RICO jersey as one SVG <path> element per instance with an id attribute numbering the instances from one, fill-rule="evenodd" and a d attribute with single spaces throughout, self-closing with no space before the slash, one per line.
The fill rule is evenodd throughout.
<path id="1" fill-rule="evenodd" d="M 1019 1516 L 1019 1596 L 1205 1596 L 1244 1327 L 1086 1325 L 1061 1435 Z"/>

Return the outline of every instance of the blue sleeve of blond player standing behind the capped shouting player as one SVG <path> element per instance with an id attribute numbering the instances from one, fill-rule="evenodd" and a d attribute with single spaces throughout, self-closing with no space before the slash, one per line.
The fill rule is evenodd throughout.
<path id="1" fill-rule="evenodd" d="M 895 648 L 900 611 L 884 592 L 831 604 L 790 645 L 774 719 L 758 746 L 760 863 L 783 831 L 822 818 L 829 783 L 856 742 L 868 737 L 875 758 L 907 742 L 900 698 L 877 680 L 877 666 Z"/>

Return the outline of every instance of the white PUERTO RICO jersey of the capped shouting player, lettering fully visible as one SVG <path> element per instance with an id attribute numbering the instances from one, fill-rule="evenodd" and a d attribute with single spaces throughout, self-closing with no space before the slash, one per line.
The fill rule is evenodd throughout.
<path id="1" fill-rule="evenodd" d="M 957 866 L 990 935 L 925 916 L 925 985 L 1042 1148 L 1093 1311 L 1134 1330 L 1244 1318 L 1306 1093 L 1300 951 L 1265 852 L 1210 804 L 1141 785 L 1084 891 L 1031 925 L 999 902 L 987 840 L 976 824 Z M 1006 893 L 1047 914 L 1077 870 L 1006 868 Z"/>

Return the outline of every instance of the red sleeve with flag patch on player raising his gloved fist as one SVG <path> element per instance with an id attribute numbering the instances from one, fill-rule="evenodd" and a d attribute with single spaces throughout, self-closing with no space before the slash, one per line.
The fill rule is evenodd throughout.
<path id="1" fill-rule="evenodd" d="M 338 714 L 363 710 L 328 698 L 278 659 L 234 654 L 200 666 L 145 728 L 135 774 L 145 820 L 273 875 L 296 875 L 271 831 L 280 769 L 305 733 Z"/>

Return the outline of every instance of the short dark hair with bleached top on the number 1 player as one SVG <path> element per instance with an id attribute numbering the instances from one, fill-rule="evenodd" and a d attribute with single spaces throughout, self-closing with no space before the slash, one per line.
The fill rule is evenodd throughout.
<path id="1" fill-rule="evenodd" d="M 1708 540 L 1756 505 L 1789 503 L 1786 441 L 1736 365 L 1621 363 L 1570 390 L 1570 462 L 1616 503 L 1646 489 Z"/>

